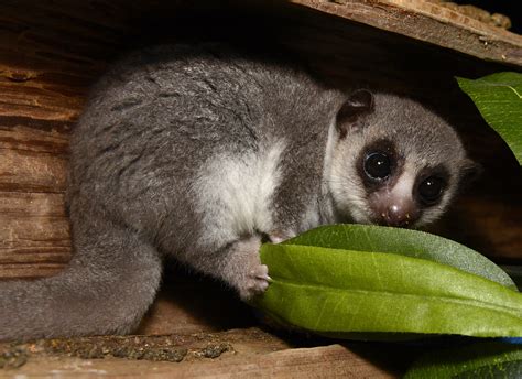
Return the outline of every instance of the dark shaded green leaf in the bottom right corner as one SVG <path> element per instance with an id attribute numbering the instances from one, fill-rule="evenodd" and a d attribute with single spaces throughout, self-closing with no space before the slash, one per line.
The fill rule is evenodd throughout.
<path id="1" fill-rule="evenodd" d="M 404 376 L 433 378 L 522 378 L 522 346 L 482 343 L 429 351 Z"/>

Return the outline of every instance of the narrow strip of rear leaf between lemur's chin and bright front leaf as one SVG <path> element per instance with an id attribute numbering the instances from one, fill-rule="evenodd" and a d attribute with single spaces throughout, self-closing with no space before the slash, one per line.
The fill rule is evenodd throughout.
<path id="1" fill-rule="evenodd" d="M 374 225 L 329 225 L 292 238 L 285 245 L 392 252 L 433 260 L 516 290 L 511 278 L 485 256 L 464 245 L 427 232 Z"/>

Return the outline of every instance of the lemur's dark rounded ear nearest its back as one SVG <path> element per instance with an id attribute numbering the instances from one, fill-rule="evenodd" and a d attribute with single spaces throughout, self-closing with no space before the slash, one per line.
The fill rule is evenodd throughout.
<path id="1" fill-rule="evenodd" d="M 360 116 L 373 111 L 373 95 L 366 89 L 352 93 L 340 107 L 336 117 L 336 126 L 340 138 L 345 138 L 348 130 L 357 127 Z"/>

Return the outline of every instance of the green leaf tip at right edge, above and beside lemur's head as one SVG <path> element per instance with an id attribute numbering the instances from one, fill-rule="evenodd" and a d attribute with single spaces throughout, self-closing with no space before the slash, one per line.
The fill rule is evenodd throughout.
<path id="1" fill-rule="evenodd" d="M 522 164 L 522 74 L 497 73 L 476 80 L 457 80 Z"/>

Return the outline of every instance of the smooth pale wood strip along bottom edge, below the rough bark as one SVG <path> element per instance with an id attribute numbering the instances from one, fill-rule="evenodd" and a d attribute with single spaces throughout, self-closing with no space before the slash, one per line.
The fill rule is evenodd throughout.
<path id="1" fill-rule="evenodd" d="M 250 359 L 249 359 L 250 358 Z M 357 359 L 340 345 L 289 349 L 241 361 L 214 360 L 194 364 L 145 360 L 81 360 L 34 358 L 0 378 L 399 378 Z"/>

